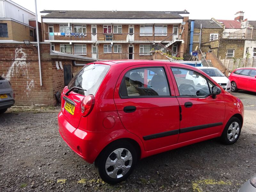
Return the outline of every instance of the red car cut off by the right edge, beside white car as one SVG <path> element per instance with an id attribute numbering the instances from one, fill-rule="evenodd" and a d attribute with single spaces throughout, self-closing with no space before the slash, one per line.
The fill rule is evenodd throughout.
<path id="1" fill-rule="evenodd" d="M 256 68 L 243 67 L 235 69 L 228 77 L 231 91 L 246 90 L 256 92 Z"/>

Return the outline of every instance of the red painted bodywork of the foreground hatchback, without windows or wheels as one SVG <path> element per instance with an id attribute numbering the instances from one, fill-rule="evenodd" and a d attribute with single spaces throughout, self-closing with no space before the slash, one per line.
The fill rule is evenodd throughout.
<path id="1" fill-rule="evenodd" d="M 62 109 L 58 116 L 59 131 L 62 138 L 79 156 L 89 163 L 93 163 L 100 152 L 111 142 L 119 139 L 129 139 L 136 142 L 140 148 L 140 158 L 179 148 L 221 135 L 228 120 L 234 116 L 243 119 L 244 108 L 242 102 L 225 92 L 219 84 L 214 82 L 202 71 L 188 65 L 169 63 L 164 61 L 102 61 L 95 62 L 110 65 L 105 78 L 95 93 L 95 104 L 91 113 L 81 117 L 68 118 L 62 102 Z M 122 99 L 119 88 L 124 74 L 133 68 L 163 67 L 169 81 L 171 96 L 157 98 L 127 98 Z M 171 67 L 182 67 L 194 70 L 206 76 L 221 93 L 215 99 L 212 95 L 206 98 L 179 97 L 179 90 L 171 71 Z M 64 89 L 64 93 L 67 89 Z M 70 93 L 71 99 L 81 97 L 75 92 Z M 80 98 L 79 98 L 80 97 Z M 63 100 L 62 100 L 63 101 Z M 185 108 L 185 102 L 192 102 L 193 107 Z M 136 106 L 133 113 L 125 113 L 125 106 Z M 79 108 L 79 104 L 76 103 Z M 182 120 L 180 121 L 180 107 Z M 78 109 L 77 109 L 78 110 Z M 207 115 L 207 116 L 205 116 Z M 214 116 L 214 118 L 213 118 Z M 74 122 L 76 119 L 78 122 Z M 172 132 L 188 127 L 214 124 L 212 127 L 195 131 L 168 135 L 156 139 L 143 139 L 157 133 Z M 79 147 L 78 147 L 79 146 Z"/>

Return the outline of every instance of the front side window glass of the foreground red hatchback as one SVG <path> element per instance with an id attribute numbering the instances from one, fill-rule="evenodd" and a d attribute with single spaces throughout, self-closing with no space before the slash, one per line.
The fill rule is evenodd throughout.
<path id="1" fill-rule="evenodd" d="M 180 96 L 204 97 L 210 94 L 206 78 L 192 70 L 172 68 Z"/>

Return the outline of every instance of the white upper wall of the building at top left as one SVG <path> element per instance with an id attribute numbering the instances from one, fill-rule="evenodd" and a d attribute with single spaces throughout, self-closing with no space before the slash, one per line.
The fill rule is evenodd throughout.
<path id="1" fill-rule="evenodd" d="M 0 18 L 12 18 L 22 23 L 28 24 L 28 20 L 35 17 L 36 15 L 33 12 L 30 12 L 18 4 L 8 0 L 0 0 Z"/>

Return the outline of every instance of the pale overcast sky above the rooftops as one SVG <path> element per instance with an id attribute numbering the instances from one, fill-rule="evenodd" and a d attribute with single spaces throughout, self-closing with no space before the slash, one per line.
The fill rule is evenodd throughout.
<path id="1" fill-rule="evenodd" d="M 13 2 L 35 12 L 35 0 L 12 0 Z M 253 3 L 254 2 L 254 3 Z M 97 11 L 182 11 L 190 12 L 189 19 L 223 19 L 234 20 L 234 14 L 244 11 L 244 19 L 256 20 L 256 1 L 161 1 L 161 0 L 37 0 L 37 12 L 43 10 L 97 10 Z"/>

